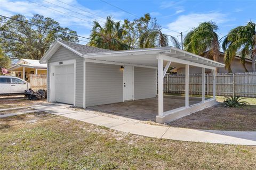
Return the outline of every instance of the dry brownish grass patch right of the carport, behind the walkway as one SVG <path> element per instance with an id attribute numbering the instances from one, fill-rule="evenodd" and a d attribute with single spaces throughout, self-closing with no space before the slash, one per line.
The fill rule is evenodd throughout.
<path id="1" fill-rule="evenodd" d="M 255 105 L 224 108 L 218 104 L 170 122 L 169 125 L 192 129 L 256 131 L 255 122 Z"/>

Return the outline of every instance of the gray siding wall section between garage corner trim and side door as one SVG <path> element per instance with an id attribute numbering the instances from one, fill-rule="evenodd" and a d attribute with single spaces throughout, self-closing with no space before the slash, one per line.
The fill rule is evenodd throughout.
<path id="1" fill-rule="evenodd" d="M 86 62 L 85 76 L 86 107 L 123 101 L 120 65 Z"/>

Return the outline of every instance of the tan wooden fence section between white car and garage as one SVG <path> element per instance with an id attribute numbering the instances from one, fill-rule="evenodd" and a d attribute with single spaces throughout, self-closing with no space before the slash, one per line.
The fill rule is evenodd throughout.
<path id="1" fill-rule="evenodd" d="M 46 90 L 47 88 L 47 75 L 46 74 L 29 74 L 28 82 L 30 88 L 34 91 L 39 89 Z"/>

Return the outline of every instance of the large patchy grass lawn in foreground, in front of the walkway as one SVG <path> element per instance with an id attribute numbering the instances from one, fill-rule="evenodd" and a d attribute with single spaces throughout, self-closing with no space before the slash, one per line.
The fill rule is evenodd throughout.
<path id="1" fill-rule="evenodd" d="M 141 137 L 46 113 L 0 119 L 1 169 L 255 169 L 256 147 Z"/>

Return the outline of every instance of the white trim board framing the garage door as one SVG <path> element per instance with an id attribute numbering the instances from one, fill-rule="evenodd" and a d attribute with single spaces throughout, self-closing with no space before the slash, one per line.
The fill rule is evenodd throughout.
<path id="1" fill-rule="evenodd" d="M 62 64 L 59 64 L 59 62 L 53 62 L 50 63 L 50 97 L 49 101 L 54 102 L 56 101 L 55 97 L 55 66 L 61 66 L 61 65 L 69 65 L 69 64 L 74 64 L 74 100 L 73 100 L 73 105 L 76 106 L 76 60 L 65 60 L 61 61 Z M 54 78 L 53 78 L 54 77 Z"/>

